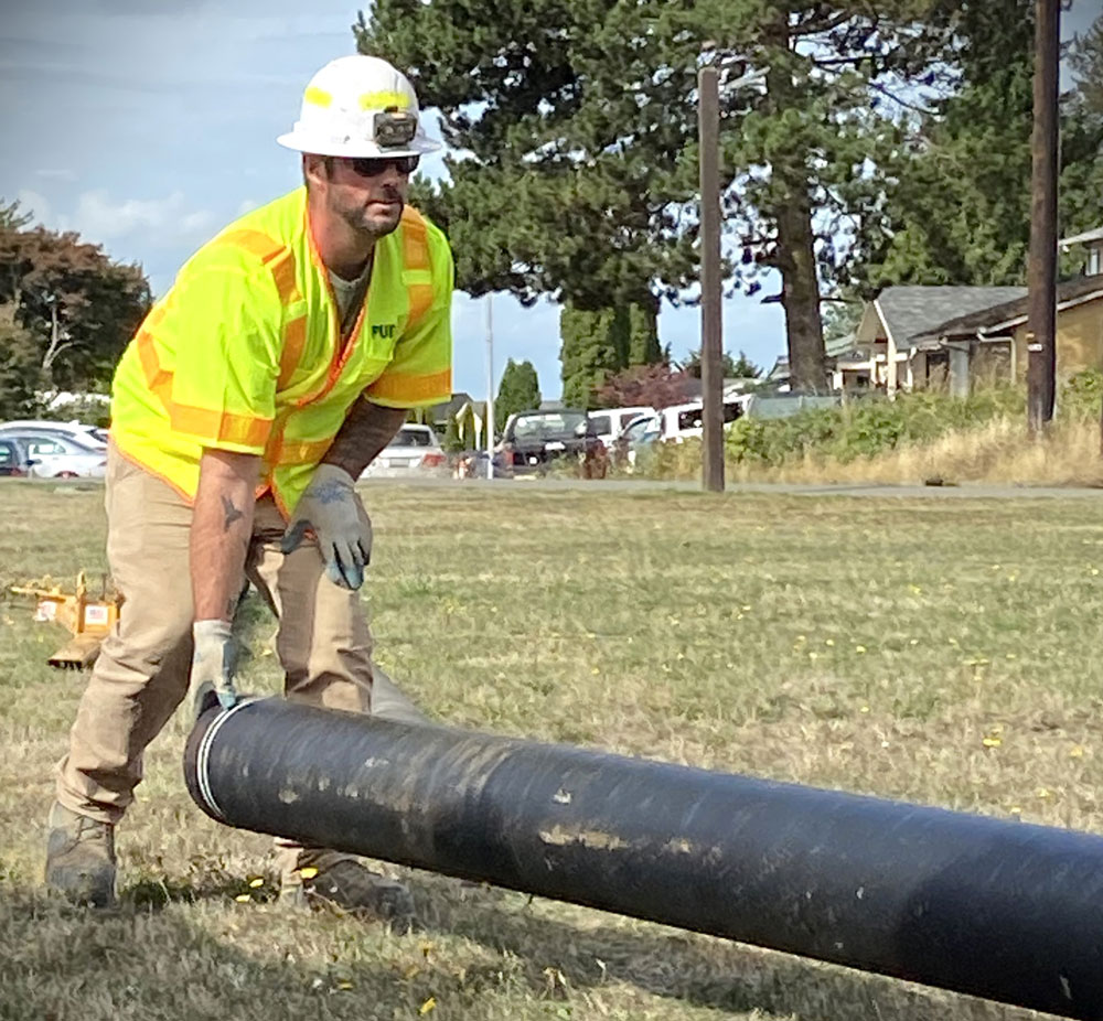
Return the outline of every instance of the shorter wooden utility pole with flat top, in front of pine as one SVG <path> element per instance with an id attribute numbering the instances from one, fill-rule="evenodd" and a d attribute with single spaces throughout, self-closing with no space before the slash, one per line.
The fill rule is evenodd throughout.
<path id="1" fill-rule="evenodd" d="M 724 341 L 720 278 L 720 90 L 711 64 L 697 72 L 700 146 L 700 386 L 703 410 L 702 483 L 724 492 Z"/>

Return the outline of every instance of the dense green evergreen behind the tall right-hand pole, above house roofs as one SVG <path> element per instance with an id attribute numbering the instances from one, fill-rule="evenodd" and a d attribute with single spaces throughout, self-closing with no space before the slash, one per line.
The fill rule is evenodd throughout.
<path id="1" fill-rule="evenodd" d="M 870 297 L 890 283 L 1026 282 L 1034 7 L 962 4 L 952 54 L 957 87 L 932 104 L 886 166 L 882 208 L 861 236 L 853 273 L 858 293 Z M 1063 233 L 1099 225 L 1103 191 L 1103 125 L 1091 115 L 1097 72 L 1086 40 L 1077 52 L 1082 77 L 1062 97 Z"/>

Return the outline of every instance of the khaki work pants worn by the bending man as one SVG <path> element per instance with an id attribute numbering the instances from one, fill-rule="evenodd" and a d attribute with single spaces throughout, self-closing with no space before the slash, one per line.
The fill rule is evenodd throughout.
<path id="1" fill-rule="evenodd" d="M 192 509 L 114 444 L 105 502 L 107 558 L 126 601 L 81 699 L 68 754 L 58 766 L 57 800 L 72 812 L 115 824 L 141 781 L 146 746 L 188 692 Z M 373 671 L 372 635 L 358 593 L 325 577 L 317 544 L 304 541 L 282 554 L 283 529 L 271 496 L 261 497 L 246 574 L 279 621 L 276 652 L 285 695 L 314 706 L 424 721 L 385 674 Z"/>

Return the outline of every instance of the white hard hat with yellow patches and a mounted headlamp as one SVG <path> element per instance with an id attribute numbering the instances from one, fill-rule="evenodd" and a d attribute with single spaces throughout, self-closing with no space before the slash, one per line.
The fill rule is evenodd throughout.
<path id="1" fill-rule="evenodd" d="M 420 155 L 440 149 L 418 117 L 414 86 L 375 56 L 331 61 L 302 94 L 302 111 L 281 146 L 319 155 Z"/>

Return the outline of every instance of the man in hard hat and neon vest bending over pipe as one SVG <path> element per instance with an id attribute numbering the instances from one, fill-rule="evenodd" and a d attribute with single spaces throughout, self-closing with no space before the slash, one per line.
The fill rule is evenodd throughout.
<path id="1" fill-rule="evenodd" d="M 189 681 L 235 702 L 243 574 L 279 620 L 289 698 L 418 716 L 373 670 L 353 482 L 407 409 L 451 396 L 451 254 L 405 206 L 438 143 L 410 83 L 368 56 L 314 75 L 278 141 L 302 153 L 304 186 L 201 248 L 116 372 L 107 551 L 125 603 L 58 766 L 46 855 L 47 884 L 77 901 L 114 902 L 115 826 Z M 279 857 L 281 895 L 410 912 L 349 856 L 283 841 Z"/>

